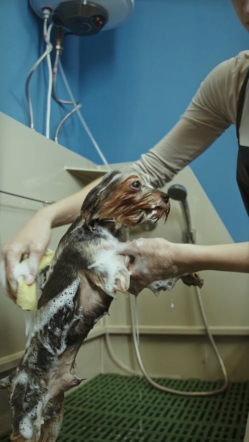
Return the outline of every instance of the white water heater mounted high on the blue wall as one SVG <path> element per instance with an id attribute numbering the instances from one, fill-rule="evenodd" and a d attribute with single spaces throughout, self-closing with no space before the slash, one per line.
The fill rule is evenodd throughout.
<path id="1" fill-rule="evenodd" d="M 41 18 L 49 9 L 49 21 L 55 26 L 85 36 L 121 25 L 134 8 L 134 0 L 30 0 L 30 4 Z"/>

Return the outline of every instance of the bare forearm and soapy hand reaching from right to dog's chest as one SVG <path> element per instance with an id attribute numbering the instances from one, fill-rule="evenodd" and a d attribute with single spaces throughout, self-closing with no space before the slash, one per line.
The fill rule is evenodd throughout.
<path id="1" fill-rule="evenodd" d="M 200 270 L 249 273 L 249 242 L 199 246 L 171 243 L 163 238 L 140 238 L 119 245 L 117 253 L 132 257 L 128 269 L 142 287 L 155 280 Z"/>

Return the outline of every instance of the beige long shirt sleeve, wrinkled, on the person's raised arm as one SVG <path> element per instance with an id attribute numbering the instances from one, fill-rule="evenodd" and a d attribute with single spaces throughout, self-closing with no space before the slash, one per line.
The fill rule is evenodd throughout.
<path id="1" fill-rule="evenodd" d="M 237 103 L 248 70 L 249 51 L 219 64 L 203 81 L 178 123 L 135 163 L 156 187 L 170 181 L 236 124 Z"/>

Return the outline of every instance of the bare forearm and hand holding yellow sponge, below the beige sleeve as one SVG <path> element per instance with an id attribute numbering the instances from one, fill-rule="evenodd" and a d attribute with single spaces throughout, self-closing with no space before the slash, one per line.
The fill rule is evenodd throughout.
<path id="1" fill-rule="evenodd" d="M 16 291 L 16 280 L 13 270 L 23 254 L 29 256 L 29 275 L 25 278 L 31 284 L 36 276 L 39 262 L 51 238 L 53 227 L 72 223 L 79 215 L 81 205 L 88 192 L 102 178 L 97 178 L 78 192 L 63 198 L 49 206 L 43 207 L 17 232 L 17 234 L 2 248 L 1 259 L 5 262 L 6 277 L 12 290 Z"/>

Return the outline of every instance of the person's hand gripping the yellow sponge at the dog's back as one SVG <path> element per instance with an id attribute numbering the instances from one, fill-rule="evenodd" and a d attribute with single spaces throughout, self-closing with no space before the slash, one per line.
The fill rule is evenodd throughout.
<path id="1" fill-rule="evenodd" d="M 11 291 L 16 292 L 17 290 L 17 281 L 14 276 L 15 266 L 21 261 L 23 255 L 28 255 L 28 273 L 25 275 L 25 282 L 28 285 L 32 284 L 50 238 L 51 221 L 46 212 L 41 209 L 2 248 L 1 260 L 3 260 L 3 267 L 5 267 L 5 275 L 2 275 L 1 279 L 5 278 L 3 285 L 11 299 L 15 299 Z"/>

